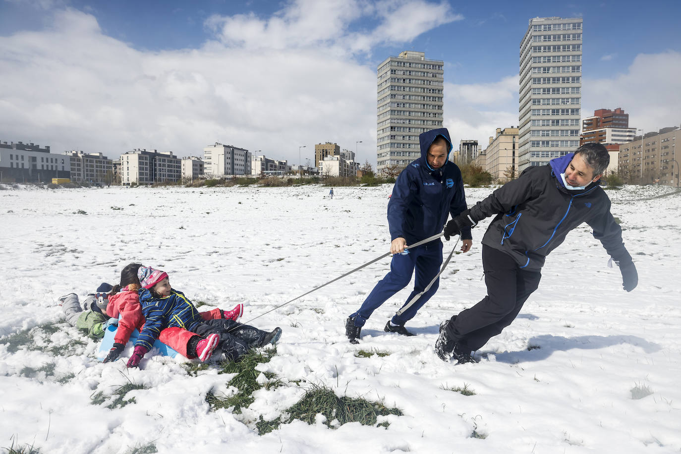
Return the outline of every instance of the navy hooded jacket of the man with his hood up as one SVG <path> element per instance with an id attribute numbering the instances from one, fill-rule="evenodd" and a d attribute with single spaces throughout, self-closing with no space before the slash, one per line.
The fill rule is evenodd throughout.
<path id="1" fill-rule="evenodd" d="M 397 177 L 387 204 L 391 240 L 402 237 L 407 244 L 414 244 L 437 235 L 447 222 L 447 214 L 454 217 L 467 208 L 459 167 L 445 161 L 445 165 L 433 169 L 426 160 L 428 148 L 438 135 L 447 140 L 447 151 L 452 150 L 447 128 L 422 133 L 419 135 L 421 157 Z M 471 229 L 462 231 L 462 239 L 471 238 Z"/>

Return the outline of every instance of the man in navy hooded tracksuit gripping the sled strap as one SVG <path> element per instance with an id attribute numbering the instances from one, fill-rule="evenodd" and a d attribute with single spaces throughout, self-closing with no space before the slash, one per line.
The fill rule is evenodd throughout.
<path id="1" fill-rule="evenodd" d="M 439 238 L 408 250 L 405 246 L 440 233 L 448 214 L 454 217 L 466 210 L 461 171 L 456 164 L 447 161 L 449 150 L 452 150 L 449 131 L 446 128 L 432 129 L 419 135 L 419 142 L 421 158 L 409 164 L 398 176 L 387 204 L 387 222 L 392 238 L 390 252 L 393 253 L 390 272 L 366 297 L 360 310 L 351 314 L 345 323 L 345 334 L 353 344 L 358 343 L 362 326 L 371 313 L 407 287 L 414 269 L 414 290 L 407 302 L 424 291 L 439 272 L 442 263 L 442 242 Z M 473 244 L 471 229 L 464 227 L 461 238 L 461 250 L 467 252 Z M 438 285 L 439 280 L 436 280 L 405 312 L 392 317 L 383 331 L 413 336 L 405 328 L 405 323 L 428 302 Z"/>

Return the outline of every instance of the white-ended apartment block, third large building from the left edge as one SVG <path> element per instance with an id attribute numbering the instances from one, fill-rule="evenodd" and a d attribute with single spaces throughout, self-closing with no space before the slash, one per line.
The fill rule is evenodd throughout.
<path id="1" fill-rule="evenodd" d="M 121 184 L 178 182 L 182 178 L 181 160 L 172 152 L 135 148 L 121 155 Z"/>

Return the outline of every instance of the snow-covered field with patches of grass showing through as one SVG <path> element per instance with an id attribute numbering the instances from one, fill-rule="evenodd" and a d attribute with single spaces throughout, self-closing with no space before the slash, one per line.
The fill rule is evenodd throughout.
<path id="1" fill-rule="evenodd" d="M 385 253 L 391 187 L 61 189 L 0 191 L 0 447 L 43 453 L 126 453 L 153 442 L 160 453 L 678 453 L 681 450 L 681 193 L 667 187 L 608 191 L 639 271 L 622 290 L 617 267 L 582 225 L 543 269 L 518 319 L 454 366 L 434 353 L 439 323 L 486 293 L 481 239 L 456 255 L 438 293 L 408 327 L 383 332 L 409 288 L 367 322 L 359 345 L 347 316 L 389 270 L 385 258 L 259 317 L 283 328 L 278 354 L 260 366 L 284 386 L 255 392 L 242 414 L 210 410 L 206 393 L 234 392 L 217 366 L 187 374 L 186 359 L 97 361 L 97 342 L 63 322 L 57 297 L 115 283 L 131 262 L 160 267 L 175 289 L 221 308 L 247 304 L 242 321 Z M 469 205 L 491 189 L 468 189 Z M 116 209 L 121 208 L 121 209 Z M 85 212 L 79 213 L 79 211 Z M 445 243 L 445 253 L 452 242 Z M 57 323 L 36 345 L 8 336 Z M 51 331 L 50 331 L 51 332 Z M 74 339 L 82 343 L 74 343 Z M 29 342 L 30 344 L 30 342 Z M 56 347 L 56 348 L 55 348 Z M 360 349 L 390 355 L 355 357 Z M 129 382 L 136 402 L 92 404 Z M 402 410 L 387 427 L 329 429 L 301 421 L 259 436 L 311 385 L 382 400 Z M 451 388 L 466 387 L 474 395 Z M 632 391 L 634 389 L 634 391 Z M 650 391 L 648 395 L 646 391 Z M 645 395 L 642 397 L 642 395 Z M 635 398 L 634 398 L 635 397 Z M 473 436 L 473 435 L 477 436 Z M 484 438 L 482 438 L 484 437 Z"/>

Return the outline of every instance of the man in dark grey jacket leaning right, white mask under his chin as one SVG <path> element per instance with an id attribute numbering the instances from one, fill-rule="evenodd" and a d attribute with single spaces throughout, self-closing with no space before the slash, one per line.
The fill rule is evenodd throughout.
<path id="1" fill-rule="evenodd" d="M 610 161 L 605 146 L 584 144 L 548 165 L 528 167 L 520 178 L 494 191 L 447 223 L 445 238 L 495 216 L 482 239 L 487 296 L 440 325 L 435 343 L 444 361 L 475 361 L 475 351 L 516 319 L 539 286 L 546 256 L 569 231 L 586 222 L 619 265 L 622 287 L 635 289 L 636 267 L 622 243 L 622 229 L 597 181 Z M 571 279 L 579 280 L 575 273 Z"/>

